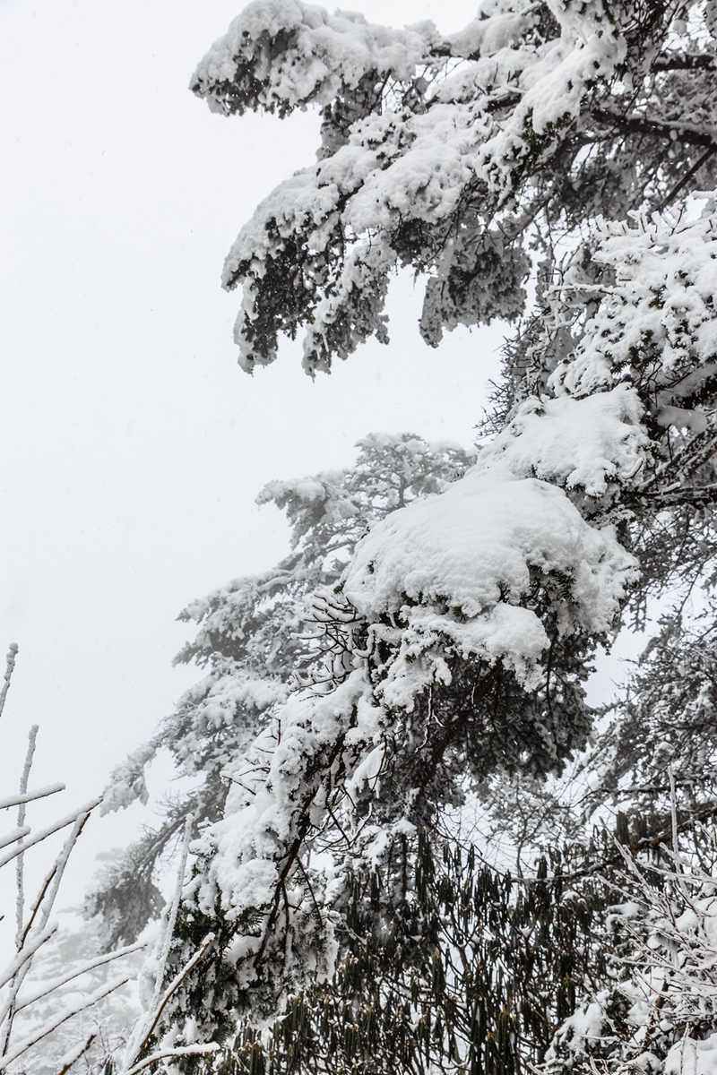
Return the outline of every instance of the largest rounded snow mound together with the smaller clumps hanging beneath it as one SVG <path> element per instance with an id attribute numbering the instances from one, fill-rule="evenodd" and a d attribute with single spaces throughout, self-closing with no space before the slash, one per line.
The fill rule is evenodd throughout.
<path id="1" fill-rule="evenodd" d="M 635 571 L 612 527 L 591 527 L 560 489 L 498 463 L 377 524 L 357 547 L 344 593 L 376 635 L 398 642 L 403 660 L 389 670 L 384 698 L 410 706 L 430 677 L 411 665 L 441 636 L 463 655 L 502 659 L 534 686 L 548 645 L 540 616 L 525 607 L 536 583 L 561 631 L 600 632 Z M 450 678 L 447 669 L 436 677 Z"/>

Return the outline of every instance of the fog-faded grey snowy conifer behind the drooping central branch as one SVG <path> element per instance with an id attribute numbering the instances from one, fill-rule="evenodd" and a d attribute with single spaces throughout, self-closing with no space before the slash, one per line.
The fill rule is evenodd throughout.
<path id="1" fill-rule="evenodd" d="M 271 571 L 235 578 L 180 615 L 200 630 L 176 660 L 195 661 L 209 673 L 116 770 L 102 808 L 146 801 L 145 766 L 162 749 L 195 787 L 167 800 L 159 829 L 147 829 L 105 868 L 88 897 L 87 911 L 102 916 L 110 945 L 133 940 L 161 909 L 158 865 L 181 836 L 186 817 L 197 822 L 220 818 L 226 768 L 242 757 L 272 706 L 286 701 L 315 659 L 317 631 L 326 620 L 319 591 L 336 585 L 372 522 L 417 497 L 440 492 L 475 460 L 475 453 L 457 444 L 428 443 L 410 433 L 372 434 L 357 447 L 352 468 L 272 482 L 262 489 L 258 503 L 286 514 L 291 553 Z"/>

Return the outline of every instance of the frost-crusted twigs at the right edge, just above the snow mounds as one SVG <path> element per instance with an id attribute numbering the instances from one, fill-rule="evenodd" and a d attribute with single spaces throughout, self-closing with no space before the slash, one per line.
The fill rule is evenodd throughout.
<path id="1" fill-rule="evenodd" d="M 615 282 L 576 358 L 556 370 L 559 390 L 587 396 L 620 375 L 635 386 L 649 381 L 659 393 L 656 421 L 706 428 L 692 412 L 717 370 L 717 230 L 714 196 L 703 199 L 698 219 L 635 213 L 630 221 L 601 221 L 593 258 L 612 268 Z"/>

